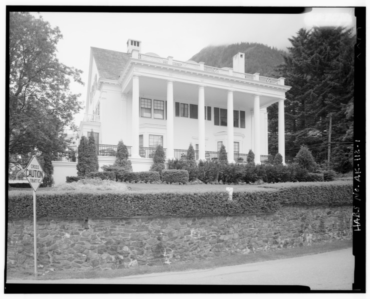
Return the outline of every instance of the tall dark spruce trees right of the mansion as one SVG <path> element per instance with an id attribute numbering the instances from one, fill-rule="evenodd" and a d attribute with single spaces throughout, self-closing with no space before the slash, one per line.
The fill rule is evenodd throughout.
<path id="1" fill-rule="evenodd" d="M 289 41 L 284 63 L 274 74 L 285 77 L 285 85 L 291 86 L 284 101 L 285 149 L 287 156 L 293 156 L 306 144 L 323 161 L 330 113 L 331 141 L 352 140 L 355 36 L 342 27 L 314 27 L 300 29 Z M 269 152 L 276 153 L 277 105 L 267 111 Z"/>

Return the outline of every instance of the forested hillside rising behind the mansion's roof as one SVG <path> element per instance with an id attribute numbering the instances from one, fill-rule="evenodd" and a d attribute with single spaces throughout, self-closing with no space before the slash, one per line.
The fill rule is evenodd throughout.
<path id="1" fill-rule="evenodd" d="M 192 56 L 190 60 L 202 61 L 209 66 L 232 67 L 232 57 L 238 52 L 245 53 L 245 72 L 249 74 L 260 73 L 261 76 L 269 77 L 273 69 L 284 61 L 283 51 L 253 42 L 207 46 Z"/>

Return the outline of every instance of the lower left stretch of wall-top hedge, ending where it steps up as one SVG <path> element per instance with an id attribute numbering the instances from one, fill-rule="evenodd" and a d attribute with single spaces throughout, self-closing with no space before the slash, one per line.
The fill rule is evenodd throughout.
<path id="1" fill-rule="evenodd" d="M 201 216 L 275 212 L 279 204 L 268 192 L 234 193 L 79 193 L 37 195 L 37 217 L 131 217 L 131 216 Z M 9 197 L 9 218 L 31 218 L 32 196 Z"/>

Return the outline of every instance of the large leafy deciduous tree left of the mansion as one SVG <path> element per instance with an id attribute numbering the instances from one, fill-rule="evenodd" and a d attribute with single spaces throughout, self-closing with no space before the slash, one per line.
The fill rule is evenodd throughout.
<path id="1" fill-rule="evenodd" d="M 42 17 L 9 13 L 8 155 L 11 163 L 34 153 L 56 154 L 69 140 L 63 131 L 74 128 L 81 109 L 79 94 L 69 91 L 74 80 L 83 84 L 81 70 L 59 62 L 56 44 L 62 38 Z M 24 164 L 23 164 L 24 166 Z"/>

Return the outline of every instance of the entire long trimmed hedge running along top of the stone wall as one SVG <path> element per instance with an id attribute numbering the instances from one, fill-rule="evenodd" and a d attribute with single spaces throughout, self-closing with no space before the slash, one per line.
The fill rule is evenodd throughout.
<path id="1" fill-rule="evenodd" d="M 158 174 L 159 175 L 159 174 Z M 303 183 L 276 191 L 233 193 L 118 193 L 118 192 L 40 192 L 37 217 L 131 217 L 202 216 L 243 213 L 273 213 L 280 205 L 351 205 L 352 184 Z M 31 218 L 32 196 L 9 192 L 8 217 Z"/>

